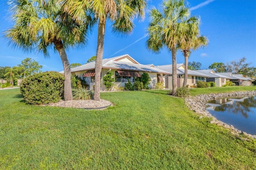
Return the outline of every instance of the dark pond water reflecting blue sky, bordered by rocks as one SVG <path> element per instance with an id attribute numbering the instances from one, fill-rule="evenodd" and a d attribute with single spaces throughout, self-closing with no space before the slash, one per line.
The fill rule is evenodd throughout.
<path id="1" fill-rule="evenodd" d="M 256 135 L 256 97 L 216 99 L 206 103 L 207 111 L 228 125 Z"/>

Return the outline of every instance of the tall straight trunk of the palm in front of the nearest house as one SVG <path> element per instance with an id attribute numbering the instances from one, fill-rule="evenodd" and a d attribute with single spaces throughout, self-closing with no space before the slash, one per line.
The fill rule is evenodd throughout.
<path id="1" fill-rule="evenodd" d="M 102 69 L 103 46 L 105 36 L 106 20 L 100 19 L 98 25 L 98 41 L 95 61 L 95 85 L 94 85 L 94 100 L 100 101 L 100 75 Z"/>

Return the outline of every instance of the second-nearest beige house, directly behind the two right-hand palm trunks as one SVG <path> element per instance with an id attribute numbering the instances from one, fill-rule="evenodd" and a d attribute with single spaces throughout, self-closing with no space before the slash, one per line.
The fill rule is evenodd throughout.
<path id="1" fill-rule="evenodd" d="M 172 89 L 172 64 L 158 65 L 155 68 L 170 72 L 169 75 L 164 75 L 166 89 Z M 181 87 L 184 82 L 185 65 L 183 63 L 177 64 L 177 87 Z M 206 81 L 209 76 L 203 73 L 199 73 L 188 69 L 188 81 L 187 85 L 194 86 L 198 81 Z"/>

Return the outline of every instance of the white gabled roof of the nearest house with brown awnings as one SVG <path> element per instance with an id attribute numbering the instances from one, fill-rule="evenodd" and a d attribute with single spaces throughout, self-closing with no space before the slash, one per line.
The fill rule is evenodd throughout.
<path id="1" fill-rule="evenodd" d="M 78 71 L 92 70 L 92 69 L 95 69 L 95 61 L 72 68 L 71 73 L 78 72 Z M 155 67 L 150 67 L 147 65 L 140 64 L 128 54 L 120 55 L 120 56 L 112 57 L 108 59 L 102 59 L 102 69 L 122 69 L 122 70 L 130 70 L 130 71 L 170 74 L 168 71 L 164 71 Z"/>

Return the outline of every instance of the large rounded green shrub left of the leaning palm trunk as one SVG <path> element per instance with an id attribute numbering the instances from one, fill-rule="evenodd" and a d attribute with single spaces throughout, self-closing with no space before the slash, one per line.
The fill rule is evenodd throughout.
<path id="1" fill-rule="evenodd" d="M 63 98 L 64 75 L 55 71 L 36 73 L 20 84 L 20 92 L 26 103 L 40 105 L 55 103 Z"/>

